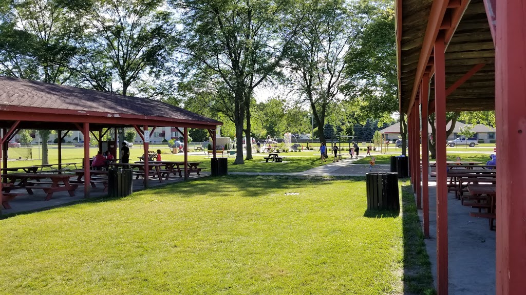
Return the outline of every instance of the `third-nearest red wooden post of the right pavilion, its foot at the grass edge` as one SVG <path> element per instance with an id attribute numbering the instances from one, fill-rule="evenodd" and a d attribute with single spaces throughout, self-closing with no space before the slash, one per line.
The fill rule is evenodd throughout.
<path id="1" fill-rule="evenodd" d="M 425 72 L 422 78 L 422 219 L 424 237 L 429 238 L 429 146 L 428 146 L 428 104 L 429 104 L 429 73 Z"/>

